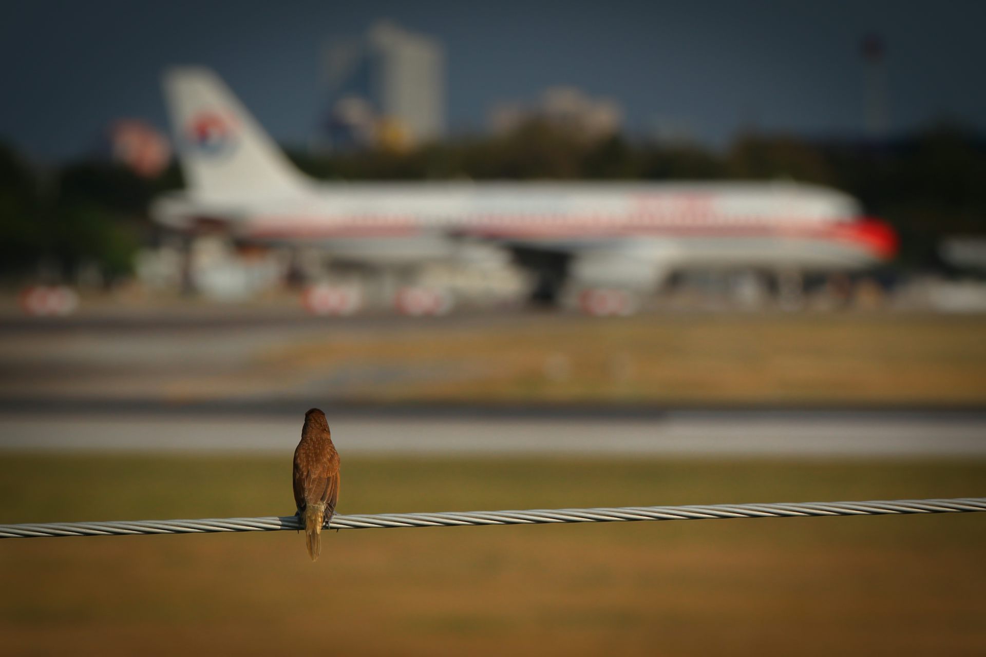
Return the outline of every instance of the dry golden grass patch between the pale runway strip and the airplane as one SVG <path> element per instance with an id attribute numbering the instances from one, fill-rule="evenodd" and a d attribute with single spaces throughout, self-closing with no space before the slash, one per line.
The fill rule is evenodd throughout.
<path id="1" fill-rule="evenodd" d="M 328 376 L 345 382 L 343 396 L 391 401 L 984 404 L 983 336 L 982 316 L 889 313 L 340 325 L 269 349 L 226 385 L 257 392 Z M 221 383 L 180 391 L 208 395 Z"/>

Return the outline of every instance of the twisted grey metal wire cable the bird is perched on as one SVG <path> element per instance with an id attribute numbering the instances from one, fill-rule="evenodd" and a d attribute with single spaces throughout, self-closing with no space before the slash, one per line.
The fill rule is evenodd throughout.
<path id="1" fill-rule="evenodd" d="M 685 506 L 619 506 L 606 508 L 528 509 L 524 511 L 447 511 L 440 513 L 370 513 L 336 515 L 327 529 L 396 527 L 462 527 L 469 525 L 536 525 L 571 522 L 636 522 L 642 520 L 712 520 L 727 518 L 793 518 L 838 515 L 900 515 L 986 511 L 986 497 L 893 499 L 846 502 L 773 502 L 760 504 L 689 504 Z M 213 532 L 276 532 L 303 529 L 293 515 L 201 520 L 135 520 L 113 522 L 47 522 L 0 525 L 0 538 L 61 536 L 131 536 L 136 534 L 208 534 Z"/>

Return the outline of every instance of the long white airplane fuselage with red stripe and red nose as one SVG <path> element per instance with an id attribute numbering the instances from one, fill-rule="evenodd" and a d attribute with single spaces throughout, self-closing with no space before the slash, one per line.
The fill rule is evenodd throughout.
<path id="1" fill-rule="evenodd" d="M 329 183 L 287 198 L 178 194 L 163 224 L 220 222 L 257 242 L 316 241 L 349 258 L 440 257 L 451 238 L 583 253 L 653 252 L 669 265 L 863 267 L 892 254 L 893 233 L 840 192 L 788 182 Z"/>

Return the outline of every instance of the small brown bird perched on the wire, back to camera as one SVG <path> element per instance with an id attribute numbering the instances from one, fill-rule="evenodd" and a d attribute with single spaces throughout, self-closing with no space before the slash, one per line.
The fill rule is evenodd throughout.
<path id="1" fill-rule="evenodd" d="M 305 522 L 309 557 L 318 558 L 321 527 L 335 515 L 339 498 L 339 453 L 332 444 L 325 414 L 312 409 L 305 414 L 302 441 L 295 449 L 293 475 L 298 518 Z"/>

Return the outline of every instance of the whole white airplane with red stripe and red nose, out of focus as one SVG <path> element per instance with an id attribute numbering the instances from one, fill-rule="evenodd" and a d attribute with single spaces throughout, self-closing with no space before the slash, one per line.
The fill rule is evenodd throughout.
<path id="1" fill-rule="evenodd" d="M 475 240 L 532 273 L 532 300 L 576 290 L 616 294 L 617 308 L 680 268 L 849 271 L 897 247 L 851 196 L 793 181 L 316 181 L 211 70 L 171 69 L 164 91 L 186 189 L 156 199 L 152 215 L 185 233 L 317 245 L 382 269 L 451 258 Z"/>

